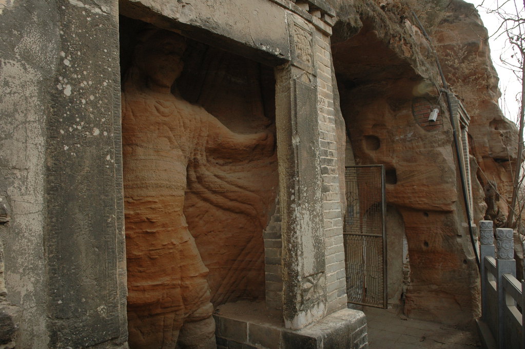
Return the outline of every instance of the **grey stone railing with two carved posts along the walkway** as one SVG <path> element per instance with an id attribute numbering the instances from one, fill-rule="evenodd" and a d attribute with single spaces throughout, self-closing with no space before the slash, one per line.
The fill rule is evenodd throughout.
<path id="1" fill-rule="evenodd" d="M 516 279 L 513 231 L 479 222 L 481 239 L 481 319 L 478 328 L 485 348 L 518 349 L 525 345 L 525 282 Z M 497 254 L 496 252 L 497 251 Z"/>

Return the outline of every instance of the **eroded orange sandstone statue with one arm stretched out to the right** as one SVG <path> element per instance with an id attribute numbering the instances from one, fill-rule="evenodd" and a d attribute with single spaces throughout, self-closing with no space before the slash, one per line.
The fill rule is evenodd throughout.
<path id="1" fill-rule="evenodd" d="M 208 156 L 217 152 L 234 163 L 275 152 L 271 132 L 234 133 L 203 108 L 171 92 L 183 68 L 184 50 L 180 35 L 144 31 L 123 86 L 128 323 L 133 349 L 216 347 L 208 269 L 183 213 L 187 178 L 198 183 L 213 166 Z M 213 196 L 205 187 L 201 190 L 201 195 Z"/>

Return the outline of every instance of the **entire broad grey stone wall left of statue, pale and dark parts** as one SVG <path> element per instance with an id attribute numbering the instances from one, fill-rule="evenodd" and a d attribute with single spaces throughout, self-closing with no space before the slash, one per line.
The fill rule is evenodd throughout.
<path id="1" fill-rule="evenodd" d="M 118 19 L 117 0 L 0 3 L 2 346 L 126 346 Z"/>

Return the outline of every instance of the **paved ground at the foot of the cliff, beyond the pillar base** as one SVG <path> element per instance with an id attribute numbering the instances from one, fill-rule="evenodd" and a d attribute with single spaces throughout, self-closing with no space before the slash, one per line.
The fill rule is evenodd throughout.
<path id="1" fill-rule="evenodd" d="M 407 319 L 393 310 L 364 308 L 369 349 L 478 349 L 479 338 L 472 332 L 442 324 Z"/>

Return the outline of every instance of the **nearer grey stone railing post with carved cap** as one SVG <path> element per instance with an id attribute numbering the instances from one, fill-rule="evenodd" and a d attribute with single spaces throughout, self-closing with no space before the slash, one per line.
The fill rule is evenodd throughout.
<path id="1" fill-rule="evenodd" d="M 498 349 L 505 349 L 505 292 L 503 292 L 503 274 L 512 274 L 516 277 L 516 261 L 514 260 L 513 231 L 510 228 L 496 229 L 496 273 L 498 278 Z"/>

